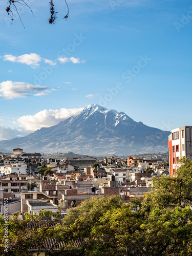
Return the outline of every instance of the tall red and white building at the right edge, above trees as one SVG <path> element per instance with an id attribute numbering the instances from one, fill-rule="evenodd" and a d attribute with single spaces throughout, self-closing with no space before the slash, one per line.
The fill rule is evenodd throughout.
<path id="1" fill-rule="evenodd" d="M 168 136 L 169 175 L 175 176 L 181 157 L 192 159 L 192 126 L 172 130 Z"/>

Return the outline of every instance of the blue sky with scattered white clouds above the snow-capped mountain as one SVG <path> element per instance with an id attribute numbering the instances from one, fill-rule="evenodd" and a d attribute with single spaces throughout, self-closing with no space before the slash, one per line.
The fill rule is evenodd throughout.
<path id="1" fill-rule="evenodd" d="M 26 0 L 27 1 L 27 0 Z M 191 1 L 28 0 L 11 24 L 0 0 L 0 139 L 89 104 L 172 130 L 191 125 Z M 19 4 L 17 4 L 18 6 Z"/>

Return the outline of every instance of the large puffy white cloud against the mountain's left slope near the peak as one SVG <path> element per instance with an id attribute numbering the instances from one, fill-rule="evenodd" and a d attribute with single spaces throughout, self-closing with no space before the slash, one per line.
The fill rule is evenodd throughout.
<path id="1" fill-rule="evenodd" d="M 80 109 L 43 110 L 35 115 L 22 116 L 17 119 L 20 129 L 34 132 L 42 127 L 50 127 L 66 120 L 71 116 L 77 116 L 82 112 Z"/>

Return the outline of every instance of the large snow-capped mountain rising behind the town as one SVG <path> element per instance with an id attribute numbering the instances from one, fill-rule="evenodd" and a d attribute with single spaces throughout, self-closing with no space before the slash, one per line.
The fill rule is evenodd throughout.
<path id="1" fill-rule="evenodd" d="M 167 152 L 170 132 L 136 122 L 123 112 L 88 105 L 78 116 L 41 128 L 23 138 L 0 141 L 11 151 L 56 153 L 74 151 L 83 155 L 130 155 Z"/>

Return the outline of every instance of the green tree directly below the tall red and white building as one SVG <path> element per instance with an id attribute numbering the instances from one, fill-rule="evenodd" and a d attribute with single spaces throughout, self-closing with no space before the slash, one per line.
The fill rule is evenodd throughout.
<path id="1" fill-rule="evenodd" d="M 175 208 L 192 204 L 192 160 L 182 158 L 176 177 L 154 177 L 152 193 L 149 193 L 143 206 L 151 211 L 154 207 Z"/>

